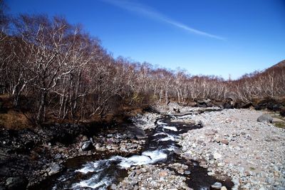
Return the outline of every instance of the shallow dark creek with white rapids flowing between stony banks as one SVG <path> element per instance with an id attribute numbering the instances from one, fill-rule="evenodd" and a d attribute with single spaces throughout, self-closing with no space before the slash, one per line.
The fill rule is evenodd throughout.
<path id="1" fill-rule="evenodd" d="M 180 163 L 188 166 L 187 184 L 193 189 L 209 189 L 209 186 L 219 180 L 207 176 L 207 169 L 199 167 L 197 162 L 182 159 L 177 145 L 179 134 L 201 128 L 202 125 L 192 125 L 183 122 L 172 122 L 184 116 L 166 115 L 155 122 L 155 129 L 147 132 L 145 147 L 140 154 L 130 157 L 113 155 L 105 159 L 96 157 L 78 157 L 66 162 L 66 171 L 60 176 L 48 179 L 44 184 L 46 189 L 108 189 L 128 175 L 130 167 L 144 164 Z M 222 181 L 220 181 L 222 182 Z M 230 188 L 231 184 L 224 184 Z"/>

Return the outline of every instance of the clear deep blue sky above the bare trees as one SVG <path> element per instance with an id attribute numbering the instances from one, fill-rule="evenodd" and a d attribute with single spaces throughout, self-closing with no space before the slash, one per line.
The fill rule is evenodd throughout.
<path id="1" fill-rule="evenodd" d="M 285 59 L 285 0 L 6 0 L 82 23 L 114 57 L 239 78 Z"/>

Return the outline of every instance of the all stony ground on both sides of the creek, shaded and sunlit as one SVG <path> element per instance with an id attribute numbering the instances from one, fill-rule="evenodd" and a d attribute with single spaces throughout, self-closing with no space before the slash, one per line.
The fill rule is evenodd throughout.
<path id="1" fill-rule="evenodd" d="M 264 112 L 175 103 L 152 107 L 152 112 L 133 117 L 133 124 L 96 133 L 81 125 L 2 129 L 0 189 L 31 187 L 64 170 L 64 162 L 74 157 L 138 154 L 144 147 L 146 132 L 163 114 L 177 115 L 172 122 L 203 125 L 180 135 L 177 140 L 182 149 L 177 154 L 189 162 L 199 162 L 208 175 L 221 181 L 229 177 L 234 189 L 285 189 L 285 130 L 269 123 L 267 117 L 259 118 L 265 122 L 258 122 Z M 284 117 L 280 118 L 273 122 L 283 126 Z M 188 173 L 187 166 L 177 162 L 131 167 L 128 176 L 111 189 L 190 189 Z M 219 183 L 213 186 L 225 189 Z"/>

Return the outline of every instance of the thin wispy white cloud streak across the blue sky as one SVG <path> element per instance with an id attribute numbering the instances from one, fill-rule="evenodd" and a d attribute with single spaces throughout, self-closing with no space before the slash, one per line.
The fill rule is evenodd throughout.
<path id="1" fill-rule="evenodd" d="M 187 26 L 184 23 L 180 23 L 178 21 L 175 21 L 173 19 L 168 18 L 167 16 L 165 16 L 163 14 L 160 14 L 158 11 L 155 11 L 151 7 L 144 6 L 144 5 L 138 4 L 138 3 L 134 3 L 133 1 L 127 1 L 127 0 L 102 0 L 102 1 L 104 1 L 108 4 L 113 4 L 114 6 L 118 6 L 122 9 L 126 9 L 128 11 L 133 11 L 137 14 L 147 16 L 150 19 L 169 23 L 172 26 L 175 26 L 177 28 L 181 28 L 181 29 L 188 31 L 190 33 L 195 33 L 195 34 L 201 35 L 201 36 L 207 36 L 209 38 L 216 38 L 219 40 L 224 40 L 224 38 L 222 38 L 220 36 L 216 36 L 214 34 L 207 33 L 204 31 L 199 31 L 195 28 L 191 28 L 190 26 Z"/>

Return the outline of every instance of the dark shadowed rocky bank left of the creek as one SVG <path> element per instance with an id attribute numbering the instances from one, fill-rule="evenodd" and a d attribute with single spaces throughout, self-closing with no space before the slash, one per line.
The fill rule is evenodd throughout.
<path id="1" fill-rule="evenodd" d="M 92 132 L 83 125 L 0 130 L 0 189 L 31 188 L 81 156 L 128 156 L 140 152 L 145 132 L 133 125 Z"/>

